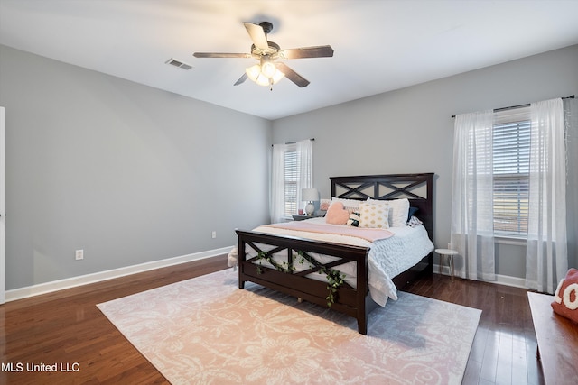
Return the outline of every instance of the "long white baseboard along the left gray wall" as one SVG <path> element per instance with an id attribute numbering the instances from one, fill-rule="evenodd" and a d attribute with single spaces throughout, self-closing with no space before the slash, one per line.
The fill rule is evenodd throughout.
<path id="1" fill-rule="evenodd" d="M 210 250 L 208 252 L 196 252 L 193 254 L 182 255 L 180 257 L 168 258 L 160 261 L 140 263 L 124 268 L 99 271 L 92 274 L 81 275 L 64 280 L 53 280 L 51 282 L 40 283 L 38 285 L 28 286 L 25 288 L 12 289 L 5 291 L 5 301 L 10 302 L 16 299 L 39 296 L 41 294 L 51 293 L 52 291 L 75 288 L 77 286 L 96 283 L 102 280 L 111 280 L 114 278 L 124 277 L 126 275 L 144 272 L 148 270 L 160 269 L 163 267 L 178 265 L 181 263 L 203 260 L 206 258 L 216 257 L 227 254 L 233 246 L 223 247 L 221 249 Z"/>

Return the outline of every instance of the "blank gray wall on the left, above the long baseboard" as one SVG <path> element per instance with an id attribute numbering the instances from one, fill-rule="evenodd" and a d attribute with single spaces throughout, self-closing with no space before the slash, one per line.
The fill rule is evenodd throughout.
<path id="1" fill-rule="evenodd" d="M 270 121 L 5 46 L 0 105 L 6 289 L 223 248 L 268 218 Z"/>

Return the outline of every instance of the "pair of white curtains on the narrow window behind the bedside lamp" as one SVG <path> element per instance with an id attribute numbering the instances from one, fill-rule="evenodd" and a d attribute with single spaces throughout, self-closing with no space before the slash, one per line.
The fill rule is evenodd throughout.
<path id="1" fill-rule="evenodd" d="M 312 188 L 313 142 L 310 139 L 291 144 L 274 144 L 271 175 L 270 219 L 282 222 L 285 217 L 285 152 L 296 151 L 297 155 L 297 205 L 301 202 L 301 189 Z"/>

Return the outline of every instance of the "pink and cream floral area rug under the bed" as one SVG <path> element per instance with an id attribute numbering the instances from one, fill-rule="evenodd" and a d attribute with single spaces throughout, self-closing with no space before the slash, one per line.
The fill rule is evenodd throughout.
<path id="1" fill-rule="evenodd" d="M 222 270 L 98 308 L 172 384 L 460 384 L 480 310 L 399 292 L 357 321 Z"/>

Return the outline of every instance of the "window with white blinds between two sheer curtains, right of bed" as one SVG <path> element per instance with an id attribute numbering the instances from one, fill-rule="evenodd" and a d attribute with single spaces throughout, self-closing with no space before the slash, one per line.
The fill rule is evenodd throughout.
<path id="1" fill-rule="evenodd" d="M 529 107 L 495 113 L 492 135 L 494 233 L 527 234 Z"/>

